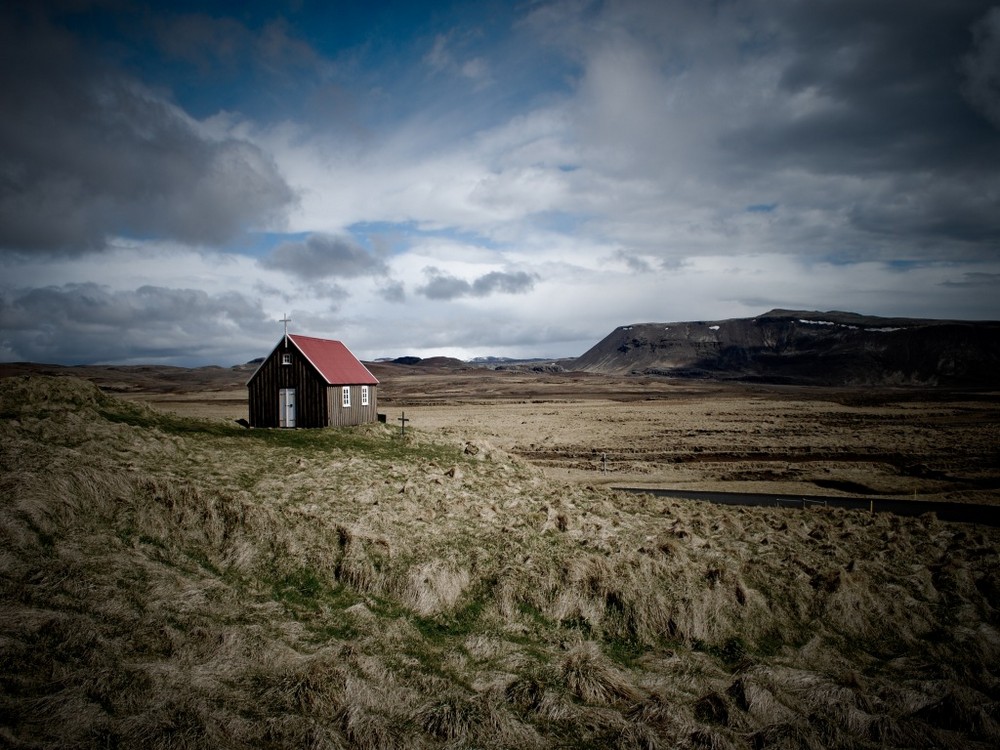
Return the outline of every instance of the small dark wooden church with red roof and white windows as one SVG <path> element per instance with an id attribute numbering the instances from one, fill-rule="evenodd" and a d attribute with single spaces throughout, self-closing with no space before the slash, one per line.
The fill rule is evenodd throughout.
<path id="1" fill-rule="evenodd" d="M 345 427 L 378 418 L 378 380 L 340 341 L 286 333 L 247 390 L 251 427 Z"/>

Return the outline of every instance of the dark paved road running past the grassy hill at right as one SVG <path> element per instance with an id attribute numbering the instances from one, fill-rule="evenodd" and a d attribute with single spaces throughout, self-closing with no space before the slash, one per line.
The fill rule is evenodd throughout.
<path id="1" fill-rule="evenodd" d="M 942 521 L 980 523 L 1000 526 L 1000 506 L 949 503 L 940 500 L 898 500 L 871 497 L 834 497 L 831 495 L 780 495 L 754 492 L 704 492 L 700 490 L 649 489 L 614 487 L 622 492 L 703 500 L 716 505 L 778 506 L 783 508 L 848 508 L 874 513 L 895 513 L 898 516 L 921 516 L 935 513 Z"/>

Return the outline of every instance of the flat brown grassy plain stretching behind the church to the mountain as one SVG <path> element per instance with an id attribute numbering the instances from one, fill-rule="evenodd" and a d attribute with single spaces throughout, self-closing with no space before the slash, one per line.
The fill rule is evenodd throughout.
<path id="1" fill-rule="evenodd" d="M 1000 391 L 816 388 L 373 365 L 389 425 L 486 440 L 552 479 L 1000 504 Z M 208 384 L 213 388 L 216 384 Z M 246 417 L 239 382 L 128 396 Z"/>

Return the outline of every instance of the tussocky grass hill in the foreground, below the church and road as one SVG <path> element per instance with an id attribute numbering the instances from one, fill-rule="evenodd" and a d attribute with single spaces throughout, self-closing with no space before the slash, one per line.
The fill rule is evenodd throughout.
<path id="1" fill-rule="evenodd" d="M 0 379 L 0 746 L 995 747 L 1000 532 Z"/>

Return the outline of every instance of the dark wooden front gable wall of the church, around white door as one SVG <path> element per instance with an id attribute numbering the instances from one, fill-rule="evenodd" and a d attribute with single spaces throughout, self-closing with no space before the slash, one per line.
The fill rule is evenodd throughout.
<path id="1" fill-rule="evenodd" d="M 290 365 L 281 364 L 291 354 Z M 325 427 L 326 382 L 294 346 L 281 345 L 271 353 L 247 384 L 251 427 L 278 427 L 278 391 L 295 389 L 295 426 Z M 360 394 L 359 394 L 360 398 Z"/>

